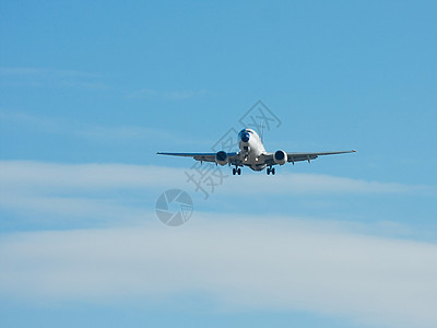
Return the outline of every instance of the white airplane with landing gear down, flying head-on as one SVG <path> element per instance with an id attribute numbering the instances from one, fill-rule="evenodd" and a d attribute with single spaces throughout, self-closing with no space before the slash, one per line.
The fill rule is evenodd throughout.
<path id="1" fill-rule="evenodd" d="M 216 153 L 161 153 L 158 155 L 172 155 L 172 156 L 184 156 L 193 157 L 196 161 L 202 162 L 214 162 L 220 165 L 235 165 L 233 168 L 233 175 L 240 175 L 240 166 L 249 166 L 253 171 L 262 171 L 267 167 L 267 174 L 274 175 L 273 165 L 284 165 L 285 163 L 316 160 L 321 155 L 334 155 L 354 153 L 352 151 L 342 152 L 324 152 L 324 153 L 287 153 L 283 150 L 269 153 L 265 151 L 262 144 L 261 138 L 252 129 L 243 129 L 238 133 L 238 147 L 239 152 L 227 153 L 225 151 L 218 151 Z"/>

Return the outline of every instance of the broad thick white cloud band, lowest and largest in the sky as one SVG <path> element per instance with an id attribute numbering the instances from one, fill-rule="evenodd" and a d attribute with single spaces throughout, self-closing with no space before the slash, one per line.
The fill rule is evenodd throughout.
<path id="1" fill-rule="evenodd" d="M 0 295 L 98 303 L 201 292 L 232 312 L 307 311 L 366 325 L 437 325 L 436 245 L 317 223 L 217 215 L 176 230 L 156 222 L 3 236 Z"/>

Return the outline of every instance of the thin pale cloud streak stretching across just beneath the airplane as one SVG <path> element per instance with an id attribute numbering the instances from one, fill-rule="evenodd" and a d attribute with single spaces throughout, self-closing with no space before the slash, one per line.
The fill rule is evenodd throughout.
<path id="1" fill-rule="evenodd" d="M 220 169 L 222 169 L 222 175 L 224 176 L 222 189 L 226 190 L 226 192 L 239 192 L 241 188 L 250 192 L 259 192 L 257 188 L 247 188 L 250 185 L 259 184 L 263 184 L 271 191 L 276 190 L 282 194 L 391 194 L 433 190 L 429 186 L 366 181 L 319 174 L 282 174 L 281 178 L 251 174 L 232 179 L 227 167 Z M 8 184 L 11 187 L 39 185 L 82 189 L 154 188 L 186 185 L 187 176 L 185 173 L 189 171 L 189 167 L 173 168 L 152 165 L 2 161 L 0 162 L 0 181 L 3 186 Z M 283 187 L 286 186 L 293 186 L 293 188 L 284 189 Z M 265 191 L 265 189 L 262 191 Z"/>

